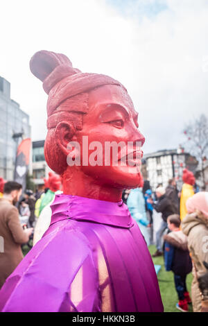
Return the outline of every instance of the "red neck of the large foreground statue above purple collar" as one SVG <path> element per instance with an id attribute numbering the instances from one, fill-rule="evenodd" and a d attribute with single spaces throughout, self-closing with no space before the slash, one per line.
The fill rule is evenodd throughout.
<path id="1" fill-rule="evenodd" d="M 80 196 L 98 200 L 119 202 L 122 190 L 113 188 L 110 185 L 100 185 L 89 175 L 70 167 L 62 175 L 63 193 L 66 195 Z"/>

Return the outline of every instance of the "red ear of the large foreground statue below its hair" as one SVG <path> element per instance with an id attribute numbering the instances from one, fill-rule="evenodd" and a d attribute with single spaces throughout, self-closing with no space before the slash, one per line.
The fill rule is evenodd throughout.
<path id="1" fill-rule="evenodd" d="M 55 128 L 56 143 L 65 155 L 68 155 L 67 145 L 69 144 L 69 141 L 72 140 L 75 133 L 75 127 L 73 126 L 73 123 L 70 122 L 60 122 Z"/>

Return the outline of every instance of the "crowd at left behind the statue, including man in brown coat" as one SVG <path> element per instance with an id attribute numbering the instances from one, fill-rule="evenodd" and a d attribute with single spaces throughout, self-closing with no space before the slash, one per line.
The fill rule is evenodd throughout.
<path id="1" fill-rule="evenodd" d="M 0 198 L 0 235 L 4 254 L 0 256 L 0 289 L 23 259 L 22 246 L 33 246 L 37 219 L 53 198 L 54 192 L 49 187 L 35 193 L 26 189 L 22 193 L 22 186 L 18 182 L 4 183 Z"/>

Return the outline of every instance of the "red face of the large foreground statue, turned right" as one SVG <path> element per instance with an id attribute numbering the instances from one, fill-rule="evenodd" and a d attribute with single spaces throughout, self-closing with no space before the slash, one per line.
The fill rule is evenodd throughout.
<path id="1" fill-rule="evenodd" d="M 112 185 L 117 188 L 138 187 L 141 180 L 138 166 L 130 166 L 128 162 L 126 166 L 121 166 L 120 161 L 118 166 L 114 166 L 112 155 L 110 166 L 105 166 L 106 141 L 115 141 L 115 144 L 124 141 L 126 145 L 131 141 L 133 147 L 129 149 L 128 154 L 135 151 L 136 141 L 140 142 L 141 146 L 144 144 L 144 136 L 138 130 L 138 113 L 134 109 L 130 96 L 122 87 L 105 85 L 89 93 L 88 104 L 89 112 L 83 117 L 83 129 L 76 133 L 76 139 L 80 144 L 81 159 L 83 159 L 83 136 L 88 137 L 88 144 L 92 144 L 92 141 L 99 142 L 103 153 L 103 165 L 92 166 L 88 162 L 87 166 L 80 166 L 80 169 L 86 175 L 98 180 L 101 185 Z M 88 157 L 96 149 L 96 147 L 89 150 L 87 148 Z M 118 158 L 120 155 L 121 148 L 118 151 Z M 123 157 L 123 154 L 121 156 Z M 138 163 L 141 165 L 141 157 Z"/>

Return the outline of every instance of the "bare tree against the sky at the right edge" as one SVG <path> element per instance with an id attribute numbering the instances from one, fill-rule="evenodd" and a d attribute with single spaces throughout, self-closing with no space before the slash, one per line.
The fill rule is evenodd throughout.
<path id="1" fill-rule="evenodd" d="M 200 163 L 203 188 L 205 189 L 205 161 L 208 156 L 208 119 L 206 115 L 201 114 L 198 119 L 189 122 L 183 132 L 187 138 L 184 147 L 191 155 L 196 156 Z"/>

